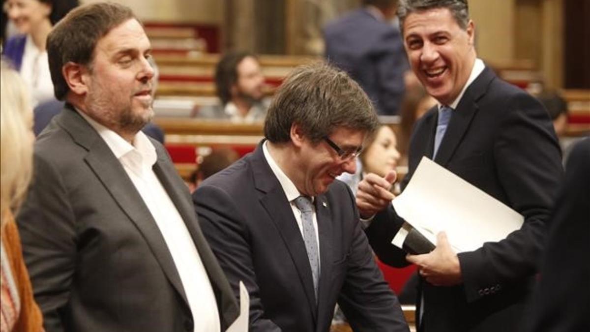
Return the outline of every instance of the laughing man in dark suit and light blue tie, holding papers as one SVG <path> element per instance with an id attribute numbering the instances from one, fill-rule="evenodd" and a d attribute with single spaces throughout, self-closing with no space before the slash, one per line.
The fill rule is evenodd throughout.
<path id="1" fill-rule="evenodd" d="M 368 174 L 356 203 L 363 219 L 370 219 L 369 242 L 389 265 L 418 265 L 419 331 L 518 331 L 562 177 L 552 123 L 539 102 L 477 58 L 467 0 L 405 0 L 398 15 L 412 70 L 438 100 L 414 127 L 402 188 L 428 157 L 525 222 L 506 239 L 473 252 L 453 252 L 440 233 L 431 253 L 405 255 L 391 245 L 404 222 L 390 203 L 395 175 Z"/>

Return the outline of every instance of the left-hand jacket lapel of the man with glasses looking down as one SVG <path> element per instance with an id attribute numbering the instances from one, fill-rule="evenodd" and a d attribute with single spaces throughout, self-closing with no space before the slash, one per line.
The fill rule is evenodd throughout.
<path id="1" fill-rule="evenodd" d="M 281 187 L 264 158 L 262 144 L 263 142 L 258 144 L 251 159 L 254 185 L 261 191 L 260 203 L 276 225 L 278 233 L 290 253 L 291 261 L 293 261 L 297 274 L 299 274 L 301 287 L 303 287 L 306 294 L 313 319 L 316 321 L 316 295 L 313 290 L 312 269 L 309 266 L 309 259 L 307 259 L 305 243 L 283 187 Z"/>

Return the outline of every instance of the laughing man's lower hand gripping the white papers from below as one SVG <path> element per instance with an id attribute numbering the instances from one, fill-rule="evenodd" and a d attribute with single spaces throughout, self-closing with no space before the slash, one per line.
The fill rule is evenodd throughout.
<path id="1" fill-rule="evenodd" d="M 437 235 L 437 248 L 425 255 L 407 255 L 408 262 L 418 265 L 419 274 L 435 286 L 461 284 L 461 265 L 457 254 L 448 243 L 447 235 Z"/>

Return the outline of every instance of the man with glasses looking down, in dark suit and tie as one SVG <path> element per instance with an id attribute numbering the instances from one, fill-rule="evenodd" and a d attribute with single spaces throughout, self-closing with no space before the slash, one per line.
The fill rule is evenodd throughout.
<path id="1" fill-rule="evenodd" d="M 329 331 L 336 302 L 355 331 L 408 331 L 360 229 L 354 173 L 378 125 L 348 75 L 300 67 L 278 91 L 254 151 L 193 194 L 205 237 L 236 295 L 250 293 L 250 331 Z"/>

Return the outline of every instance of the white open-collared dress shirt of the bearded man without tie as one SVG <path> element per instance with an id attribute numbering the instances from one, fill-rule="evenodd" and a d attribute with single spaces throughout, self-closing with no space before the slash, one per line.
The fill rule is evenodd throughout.
<path id="1" fill-rule="evenodd" d="M 180 213 L 152 169 L 158 158 L 152 142 L 139 131 L 131 145 L 83 112 L 78 110 L 78 113 L 96 129 L 121 162 L 156 221 L 181 278 L 192 312 L 194 331 L 219 332 L 221 325 L 211 282 Z M 146 292 L 149 291 L 146 289 Z"/>

